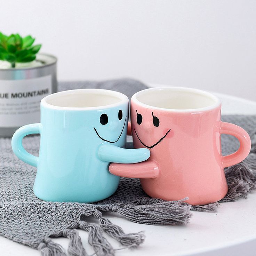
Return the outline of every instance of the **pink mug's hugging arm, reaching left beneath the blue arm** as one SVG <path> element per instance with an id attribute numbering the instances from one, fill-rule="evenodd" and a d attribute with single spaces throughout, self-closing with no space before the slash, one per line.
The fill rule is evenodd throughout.
<path id="1" fill-rule="evenodd" d="M 126 178 L 150 179 L 156 178 L 159 174 L 159 168 L 153 161 L 144 161 L 140 163 L 111 163 L 110 173 Z"/>

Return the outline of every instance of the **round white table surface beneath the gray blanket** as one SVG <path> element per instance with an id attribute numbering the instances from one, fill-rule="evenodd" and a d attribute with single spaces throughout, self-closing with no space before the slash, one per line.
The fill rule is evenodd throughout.
<path id="1" fill-rule="evenodd" d="M 223 114 L 256 114 L 256 102 L 215 93 L 222 100 Z M 255 256 L 256 251 L 256 193 L 248 199 L 222 203 L 216 213 L 194 212 L 186 226 L 150 226 L 136 224 L 110 214 L 109 219 L 125 232 L 144 230 L 145 242 L 135 250 L 118 250 L 117 256 Z M 79 231 L 89 254 L 87 233 Z M 67 248 L 65 238 L 53 239 Z M 114 248 L 118 243 L 109 238 Z M 40 252 L 0 237 L 1 256 L 39 256 Z"/>

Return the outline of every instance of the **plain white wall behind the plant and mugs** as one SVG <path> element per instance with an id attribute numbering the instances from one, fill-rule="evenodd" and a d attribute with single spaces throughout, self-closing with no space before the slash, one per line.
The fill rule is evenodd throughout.
<path id="1" fill-rule="evenodd" d="M 131 77 L 256 100 L 256 1 L 1 1 L 0 30 L 32 34 L 59 80 Z"/>

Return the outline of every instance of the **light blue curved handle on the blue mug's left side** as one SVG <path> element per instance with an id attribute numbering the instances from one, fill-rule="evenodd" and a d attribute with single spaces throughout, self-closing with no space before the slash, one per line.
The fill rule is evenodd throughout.
<path id="1" fill-rule="evenodd" d="M 29 134 L 41 134 L 42 125 L 41 123 L 32 123 L 30 125 L 24 125 L 15 131 L 13 138 L 11 139 L 11 147 L 14 154 L 21 159 L 23 162 L 28 163 L 34 167 L 38 165 L 38 157 L 28 153 L 23 145 L 22 139 Z"/>

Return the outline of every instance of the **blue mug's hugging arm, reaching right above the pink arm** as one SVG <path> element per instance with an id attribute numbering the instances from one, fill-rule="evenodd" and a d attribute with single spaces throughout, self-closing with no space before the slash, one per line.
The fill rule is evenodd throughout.
<path id="1" fill-rule="evenodd" d="M 150 157 L 148 149 L 123 149 L 111 144 L 99 146 L 98 158 L 111 163 L 138 163 Z"/>

